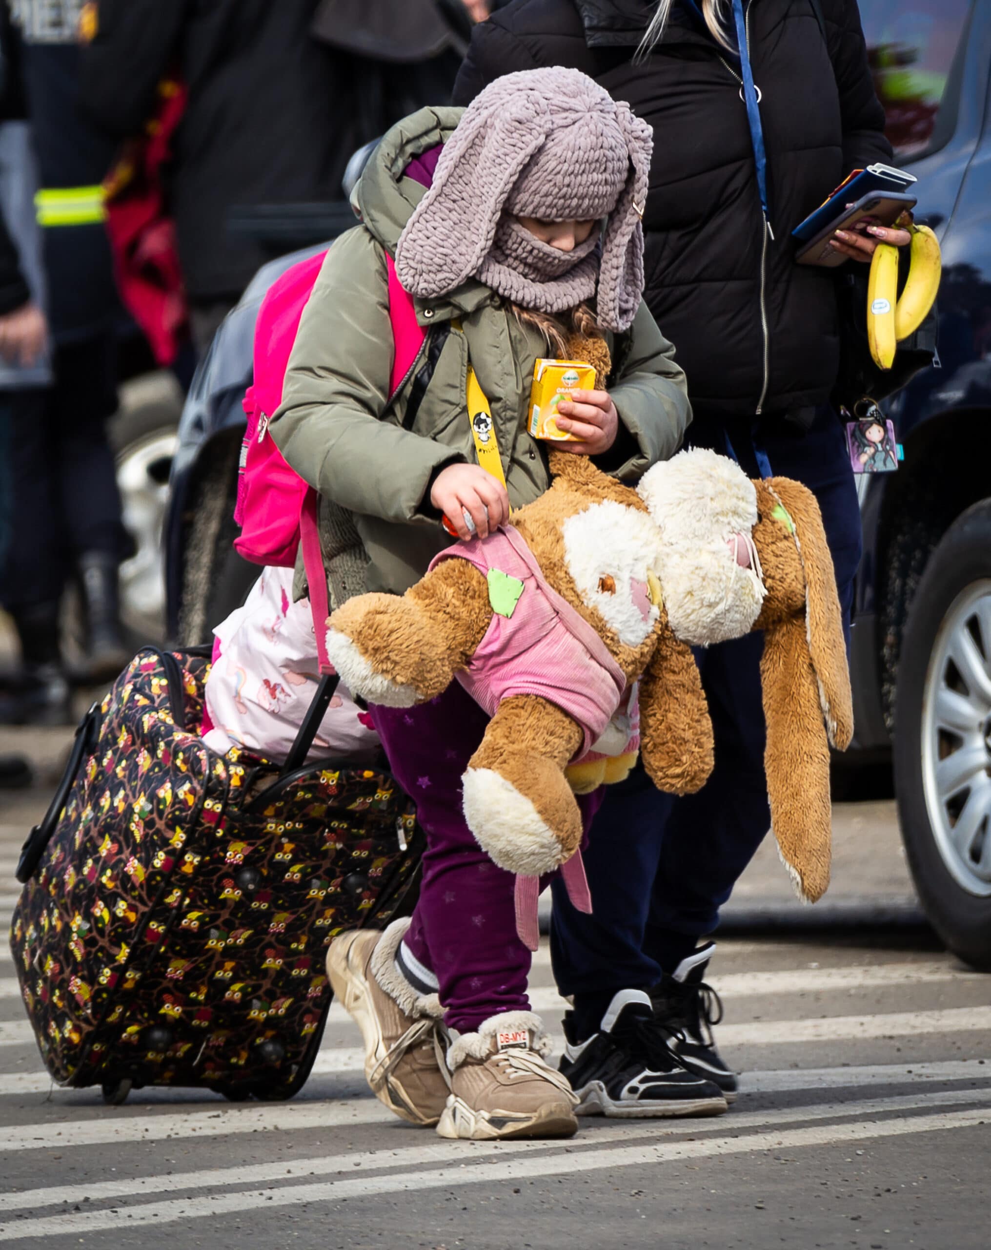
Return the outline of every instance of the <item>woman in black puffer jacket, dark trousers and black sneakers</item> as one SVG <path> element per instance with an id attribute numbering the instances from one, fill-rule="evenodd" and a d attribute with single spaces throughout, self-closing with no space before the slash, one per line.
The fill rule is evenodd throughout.
<path id="1" fill-rule="evenodd" d="M 760 91 L 764 189 L 737 9 Z M 517 0 L 475 30 L 455 102 L 537 65 L 584 70 L 654 126 L 646 299 L 687 375 L 689 441 L 754 476 L 770 462 L 815 491 L 849 615 L 860 514 L 829 406 L 835 271 L 796 265 L 790 232 L 851 170 L 891 160 L 856 0 Z M 876 238 L 909 241 L 902 230 Z M 869 260 L 876 241 L 835 246 Z M 635 772 L 609 791 L 586 852 L 595 915 L 555 888 L 555 976 L 575 1001 L 561 1066 L 592 1110 L 711 1111 L 736 1094 L 709 1030 L 712 946 L 699 939 L 770 826 L 761 648 L 751 635 L 699 656 L 716 735 L 709 785 L 672 800 Z"/>

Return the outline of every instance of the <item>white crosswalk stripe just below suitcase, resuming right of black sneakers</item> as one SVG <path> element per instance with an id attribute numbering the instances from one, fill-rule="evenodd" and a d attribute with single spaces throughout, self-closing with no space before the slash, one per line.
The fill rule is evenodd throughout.
<path id="1" fill-rule="evenodd" d="M 955 1059 L 930 1064 L 876 1064 L 860 1068 L 776 1069 L 745 1072 L 741 1090 L 745 1094 L 765 1094 L 825 1089 L 855 1089 L 862 1086 L 907 1085 L 935 1081 L 991 1081 L 991 1065 L 976 1059 Z M 175 1110 L 154 1115 L 135 1115 L 140 1108 L 119 1112 L 105 1112 L 100 1119 L 61 1121 L 56 1124 L 21 1124 L 10 1135 L 0 1138 L 0 1152 L 7 1150 L 70 1150 L 75 1148 L 107 1144 L 164 1141 L 212 1136 L 236 1136 L 250 1132 L 286 1131 L 334 1128 L 336 1125 L 392 1122 L 391 1115 L 380 1102 L 365 1095 L 357 1099 L 311 1101 L 322 1095 L 321 1079 L 311 1081 L 295 1102 L 269 1106 L 230 1106 L 214 1101 L 214 1095 L 204 1092 L 204 1100 L 214 1101 L 207 1111 L 182 1111 L 181 1104 L 171 1104 Z M 82 1092 L 82 1091 L 80 1091 Z M 151 1091 L 155 1096 L 159 1091 Z M 165 1092 L 165 1091 L 161 1091 Z M 92 1096 L 92 1092 L 91 1095 Z M 139 1094 L 137 1098 L 145 1096 Z M 160 1104 L 161 1105 L 161 1104 Z M 749 1112 L 747 1112 L 749 1114 Z M 736 1124 L 740 1112 L 734 1111 Z"/>

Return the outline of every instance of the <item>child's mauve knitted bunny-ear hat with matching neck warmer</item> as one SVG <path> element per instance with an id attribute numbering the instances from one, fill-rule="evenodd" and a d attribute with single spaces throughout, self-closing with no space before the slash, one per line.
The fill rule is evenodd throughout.
<path id="1" fill-rule="evenodd" d="M 644 290 L 644 230 L 652 134 L 630 106 L 579 70 L 507 74 L 465 110 L 434 182 L 396 246 L 414 295 L 477 278 L 524 308 L 561 312 L 597 285 L 599 324 L 626 330 Z M 571 252 L 512 220 L 590 221 L 599 235 Z"/>

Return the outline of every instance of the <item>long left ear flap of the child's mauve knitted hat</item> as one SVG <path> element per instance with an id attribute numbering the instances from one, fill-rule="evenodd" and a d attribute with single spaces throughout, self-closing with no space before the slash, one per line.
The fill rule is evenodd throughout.
<path id="1" fill-rule="evenodd" d="M 456 290 L 489 254 L 510 191 L 550 132 L 546 106 L 534 116 L 539 106 L 529 96 L 495 116 L 465 112 L 396 245 L 396 272 L 412 295 Z"/>

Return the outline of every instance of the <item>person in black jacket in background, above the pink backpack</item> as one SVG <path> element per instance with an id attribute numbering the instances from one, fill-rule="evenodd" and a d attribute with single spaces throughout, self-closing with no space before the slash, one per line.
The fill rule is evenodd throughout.
<path id="1" fill-rule="evenodd" d="M 166 74 L 187 91 L 167 208 L 200 355 L 271 259 L 229 229 L 231 210 L 342 200 L 352 152 L 420 105 L 446 104 L 464 49 L 435 0 L 96 0 L 91 11 L 81 96 L 109 138 L 141 132 Z"/>

